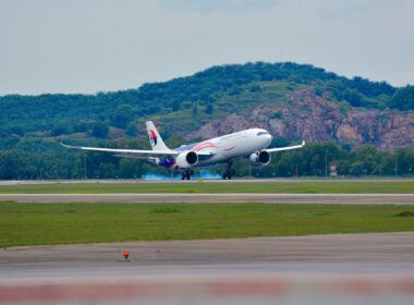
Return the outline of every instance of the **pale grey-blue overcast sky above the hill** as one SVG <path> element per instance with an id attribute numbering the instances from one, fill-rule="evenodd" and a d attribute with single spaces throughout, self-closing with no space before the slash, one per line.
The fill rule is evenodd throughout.
<path id="1" fill-rule="evenodd" d="M 414 84 L 411 0 L 0 0 L 0 95 L 95 94 L 255 61 Z"/>

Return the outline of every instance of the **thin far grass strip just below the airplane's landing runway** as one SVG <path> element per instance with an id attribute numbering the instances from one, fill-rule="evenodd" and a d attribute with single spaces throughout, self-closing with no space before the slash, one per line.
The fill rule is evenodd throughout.
<path id="1" fill-rule="evenodd" d="M 414 181 L 372 182 L 229 182 L 229 183 L 52 183 L 37 185 L 2 185 L 0 194 L 38 193 L 414 193 Z"/>

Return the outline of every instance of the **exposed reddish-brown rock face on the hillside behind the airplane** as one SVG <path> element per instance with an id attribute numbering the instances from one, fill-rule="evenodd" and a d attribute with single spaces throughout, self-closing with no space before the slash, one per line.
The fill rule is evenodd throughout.
<path id="1" fill-rule="evenodd" d="M 248 127 L 264 127 L 272 135 L 307 142 L 337 141 L 352 146 L 374 144 L 389 149 L 414 145 L 414 112 L 361 110 L 341 113 L 327 96 L 314 89 L 295 91 L 288 103 L 264 105 L 248 117 L 230 114 L 204 125 L 188 138 L 210 138 Z"/>

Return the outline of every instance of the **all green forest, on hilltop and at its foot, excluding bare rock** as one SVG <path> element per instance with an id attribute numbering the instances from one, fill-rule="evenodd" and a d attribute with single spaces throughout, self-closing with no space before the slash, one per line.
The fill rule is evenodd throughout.
<path id="1" fill-rule="evenodd" d="M 313 87 L 351 109 L 414 110 L 414 87 L 348 78 L 310 64 L 293 62 L 227 64 L 163 83 L 113 93 L 7 95 L 0 97 L 0 179 L 139 178 L 159 171 L 139 160 L 78 152 L 59 143 L 149 148 L 143 123 L 160 122 L 171 146 L 184 135 L 230 113 L 248 113 L 258 105 L 288 102 L 291 93 Z M 197 139 L 194 139 L 197 141 Z M 292 143 L 275 138 L 272 145 Z M 328 151 L 328 152 L 326 152 Z M 258 176 L 325 175 L 334 161 L 340 175 L 409 175 L 413 148 L 394 151 L 345 143 L 314 143 L 276 155 Z M 248 164 L 238 161 L 239 174 Z M 216 171 L 211 169 L 211 171 Z"/>

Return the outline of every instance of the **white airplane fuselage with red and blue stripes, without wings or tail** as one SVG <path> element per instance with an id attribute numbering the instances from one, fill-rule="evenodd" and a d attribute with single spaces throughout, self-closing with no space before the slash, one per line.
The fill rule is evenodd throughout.
<path id="1" fill-rule="evenodd" d="M 200 158 L 196 164 L 203 167 L 249 156 L 268 147 L 270 142 L 271 135 L 266 130 L 251 129 L 207 139 L 195 145 L 182 146 L 178 150 L 211 154 L 211 158 L 205 160 Z"/>

